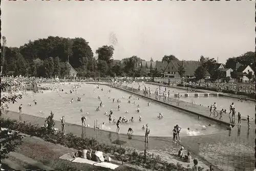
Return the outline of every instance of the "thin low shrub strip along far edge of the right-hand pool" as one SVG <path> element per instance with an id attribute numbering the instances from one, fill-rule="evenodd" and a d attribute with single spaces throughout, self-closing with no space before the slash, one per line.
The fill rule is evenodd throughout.
<path id="1" fill-rule="evenodd" d="M 181 83 L 177 84 L 177 86 L 179 86 L 179 87 L 188 87 L 188 88 L 193 88 L 193 89 L 209 90 L 209 91 L 215 91 L 215 92 L 219 91 L 217 88 L 207 88 L 207 87 L 200 87 L 200 86 L 183 85 Z M 247 97 L 252 98 L 252 99 L 255 98 L 254 93 L 235 92 L 233 90 L 222 90 L 222 93 L 242 95 L 242 96 L 247 96 Z"/>

